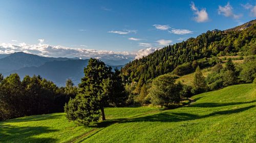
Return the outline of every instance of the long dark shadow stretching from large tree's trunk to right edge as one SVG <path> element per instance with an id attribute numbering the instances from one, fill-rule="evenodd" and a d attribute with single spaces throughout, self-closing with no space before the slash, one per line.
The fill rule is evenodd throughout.
<path id="1" fill-rule="evenodd" d="M 132 123 L 132 122 L 181 122 L 181 121 L 189 121 L 189 120 L 196 120 L 200 118 L 210 117 L 210 116 L 216 116 L 216 115 L 228 115 L 233 113 L 239 113 L 246 111 L 250 108 L 255 107 L 255 105 L 238 108 L 238 109 L 231 109 L 231 110 L 225 110 L 225 111 L 218 111 L 213 112 L 207 115 L 196 115 L 196 114 L 190 114 L 190 113 L 173 113 L 171 111 L 169 112 L 162 112 L 154 115 L 148 115 L 143 117 L 137 117 L 137 118 L 122 118 L 118 120 L 107 120 L 104 122 L 101 122 L 98 124 L 98 127 L 108 127 L 115 123 Z"/>

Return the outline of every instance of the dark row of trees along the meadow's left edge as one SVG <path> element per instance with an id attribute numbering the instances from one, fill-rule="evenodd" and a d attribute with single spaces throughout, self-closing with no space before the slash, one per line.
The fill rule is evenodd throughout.
<path id="1" fill-rule="evenodd" d="M 66 87 L 57 87 L 40 76 L 25 76 L 21 81 L 17 74 L 4 78 L 0 74 L 0 121 L 34 114 L 62 112 L 63 106 L 77 94 L 71 80 Z"/>

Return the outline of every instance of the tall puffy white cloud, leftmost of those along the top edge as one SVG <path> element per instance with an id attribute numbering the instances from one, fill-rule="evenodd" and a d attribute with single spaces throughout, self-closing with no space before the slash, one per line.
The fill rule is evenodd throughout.
<path id="1" fill-rule="evenodd" d="M 206 12 L 205 8 L 198 10 L 198 8 L 195 6 L 194 2 L 191 2 L 190 8 L 191 8 L 191 10 L 194 11 L 194 14 L 196 15 L 196 17 L 194 17 L 195 21 L 206 22 L 209 20 L 208 13 Z"/>

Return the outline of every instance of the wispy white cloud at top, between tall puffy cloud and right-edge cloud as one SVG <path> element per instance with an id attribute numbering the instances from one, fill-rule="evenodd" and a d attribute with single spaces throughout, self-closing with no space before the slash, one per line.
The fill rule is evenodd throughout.
<path id="1" fill-rule="evenodd" d="M 234 19 L 238 19 L 238 18 L 240 18 L 240 17 L 242 16 L 241 14 L 237 15 L 237 14 L 234 14 L 234 13 L 233 13 L 233 8 L 232 8 L 232 6 L 229 4 L 229 2 L 228 2 L 227 5 L 224 6 L 224 7 L 219 6 L 218 14 L 224 15 L 224 16 L 226 16 L 226 17 L 232 17 L 232 18 L 234 18 Z"/>

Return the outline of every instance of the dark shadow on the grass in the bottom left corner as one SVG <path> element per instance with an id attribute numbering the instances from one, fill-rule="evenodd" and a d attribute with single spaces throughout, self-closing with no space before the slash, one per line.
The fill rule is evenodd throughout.
<path id="1" fill-rule="evenodd" d="M 18 127 L 0 123 L 0 142 L 56 142 L 54 138 L 35 138 L 33 135 L 55 132 L 49 127 Z"/>

